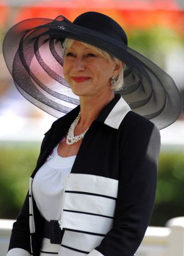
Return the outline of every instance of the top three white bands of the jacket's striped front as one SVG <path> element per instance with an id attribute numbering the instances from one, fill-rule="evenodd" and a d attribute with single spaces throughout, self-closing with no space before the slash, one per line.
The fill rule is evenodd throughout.
<path id="1" fill-rule="evenodd" d="M 113 225 L 117 191 L 116 179 L 71 173 L 60 220 L 63 228 L 106 235 Z"/>

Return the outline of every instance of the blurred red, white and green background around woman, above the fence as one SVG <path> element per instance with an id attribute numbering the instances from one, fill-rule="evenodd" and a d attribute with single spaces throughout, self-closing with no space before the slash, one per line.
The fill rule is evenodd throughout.
<path id="1" fill-rule="evenodd" d="M 184 98 L 183 0 L 0 0 L 0 219 L 15 219 L 45 131 L 55 120 L 20 95 L 2 55 L 6 31 L 26 18 L 69 20 L 87 11 L 114 18 L 127 31 L 129 46 L 174 78 Z M 158 189 L 150 225 L 184 216 L 184 111 L 161 131 Z"/>

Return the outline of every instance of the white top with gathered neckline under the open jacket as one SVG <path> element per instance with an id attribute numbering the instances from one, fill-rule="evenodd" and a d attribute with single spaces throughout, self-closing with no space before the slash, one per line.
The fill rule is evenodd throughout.
<path id="1" fill-rule="evenodd" d="M 59 145 L 59 144 L 58 144 Z M 33 197 L 41 216 L 46 220 L 60 220 L 64 185 L 76 156 L 62 157 L 57 147 L 37 171 L 33 179 Z"/>

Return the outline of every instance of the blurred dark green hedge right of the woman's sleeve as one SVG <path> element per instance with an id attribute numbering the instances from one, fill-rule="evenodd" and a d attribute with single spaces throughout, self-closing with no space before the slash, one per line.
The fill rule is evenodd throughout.
<path id="1" fill-rule="evenodd" d="M 183 186 L 184 153 L 161 153 L 151 225 L 164 225 L 167 220 L 184 215 Z"/>

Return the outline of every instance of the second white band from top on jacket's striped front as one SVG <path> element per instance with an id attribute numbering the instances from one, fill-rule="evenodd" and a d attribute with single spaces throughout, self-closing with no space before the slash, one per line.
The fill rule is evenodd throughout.
<path id="1" fill-rule="evenodd" d="M 116 200 L 87 194 L 65 193 L 64 209 L 114 216 Z"/>

